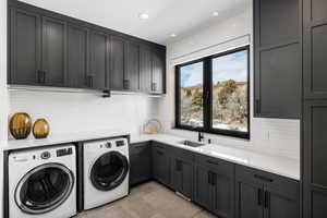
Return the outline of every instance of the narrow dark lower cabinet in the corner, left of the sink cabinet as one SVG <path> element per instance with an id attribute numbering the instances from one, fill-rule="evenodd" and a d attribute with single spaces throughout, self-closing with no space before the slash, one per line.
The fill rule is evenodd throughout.
<path id="1" fill-rule="evenodd" d="M 153 173 L 154 179 L 170 186 L 170 152 L 162 143 L 153 143 Z"/>

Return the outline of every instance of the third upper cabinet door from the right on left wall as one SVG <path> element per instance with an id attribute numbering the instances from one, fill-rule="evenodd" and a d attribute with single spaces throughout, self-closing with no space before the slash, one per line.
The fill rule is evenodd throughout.
<path id="1" fill-rule="evenodd" d="M 128 43 L 126 50 L 125 89 L 140 90 L 140 46 Z"/>

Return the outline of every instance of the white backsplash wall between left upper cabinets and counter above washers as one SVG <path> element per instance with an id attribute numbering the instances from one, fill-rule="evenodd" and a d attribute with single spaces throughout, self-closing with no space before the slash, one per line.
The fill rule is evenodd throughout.
<path id="1" fill-rule="evenodd" d="M 53 135 L 98 130 L 123 130 L 135 135 L 158 111 L 158 99 L 143 95 L 101 98 L 93 93 L 10 90 L 9 97 L 11 114 L 27 112 L 33 121 L 46 118 Z"/>

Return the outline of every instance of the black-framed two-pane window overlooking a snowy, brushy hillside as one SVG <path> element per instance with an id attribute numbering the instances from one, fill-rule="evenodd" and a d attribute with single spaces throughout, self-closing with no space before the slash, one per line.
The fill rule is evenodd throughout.
<path id="1" fill-rule="evenodd" d="M 175 125 L 250 138 L 249 46 L 177 65 Z"/>

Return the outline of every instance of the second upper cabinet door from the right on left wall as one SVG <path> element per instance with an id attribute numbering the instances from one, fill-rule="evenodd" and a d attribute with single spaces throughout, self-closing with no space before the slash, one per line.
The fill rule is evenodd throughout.
<path id="1" fill-rule="evenodd" d="M 150 93 L 153 90 L 152 83 L 152 50 L 147 47 L 141 47 L 140 51 L 140 86 L 144 93 Z"/>

